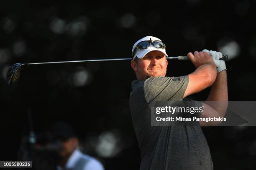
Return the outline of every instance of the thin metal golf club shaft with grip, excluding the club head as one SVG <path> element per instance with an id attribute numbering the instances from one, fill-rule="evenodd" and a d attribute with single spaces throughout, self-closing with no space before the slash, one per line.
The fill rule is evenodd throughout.
<path id="1" fill-rule="evenodd" d="M 227 55 L 223 55 L 220 60 L 227 60 Z M 189 60 L 186 55 L 176 57 L 166 57 L 166 59 L 176 60 Z M 56 61 L 56 62 L 35 62 L 35 63 L 23 63 L 23 65 L 39 65 L 39 64 L 56 64 L 56 63 L 71 63 L 71 62 L 92 62 L 92 61 L 113 61 L 113 60 L 132 60 L 132 58 L 110 58 L 110 59 L 95 59 L 95 60 L 74 60 L 74 61 Z"/>

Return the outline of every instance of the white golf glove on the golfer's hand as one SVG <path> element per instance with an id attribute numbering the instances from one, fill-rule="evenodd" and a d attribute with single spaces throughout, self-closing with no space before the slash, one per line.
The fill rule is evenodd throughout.
<path id="1" fill-rule="evenodd" d="M 202 50 L 202 52 L 208 52 L 211 56 L 212 59 L 217 67 L 217 73 L 223 71 L 223 70 L 227 70 L 226 65 L 225 65 L 225 61 L 224 60 L 220 60 L 220 58 L 222 58 L 222 53 L 221 52 L 217 52 L 217 51 L 212 51 L 212 50 Z"/>

